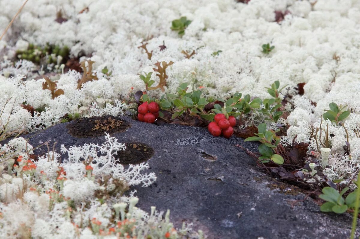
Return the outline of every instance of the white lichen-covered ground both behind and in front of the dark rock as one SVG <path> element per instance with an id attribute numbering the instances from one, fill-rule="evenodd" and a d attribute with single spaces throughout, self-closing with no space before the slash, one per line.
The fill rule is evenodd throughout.
<path id="1" fill-rule="evenodd" d="M 22 3 L 0 1 L 0 32 Z M 183 34 L 171 29 L 172 22 L 180 17 L 191 21 Z M 188 83 L 188 92 L 201 89 L 210 102 L 236 92 L 264 99 L 269 97 L 265 87 L 278 80 L 281 87 L 285 86 L 279 95 L 284 112 L 279 120 L 266 120 L 262 113 L 249 114 L 241 118 L 239 128 L 265 122 L 268 130 L 275 130 L 281 125 L 285 131 L 281 145 L 296 147 L 295 141 L 303 142 L 307 144 L 306 153 L 319 160 L 319 149 L 330 148 L 328 165 L 321 169 L 318 163 L 316 167 L 327 180 L 342 179 L 340 184 L 346 185 L 360 168 L 359 23 L 357 0 L 30 0 L 0 40 L 0 107 L 4 106 L 0 140 L 78 117 L 136 115 L 134 93 L 147 89 L 139 74 L 154 72 L 157 62 L 167 62 L 164 91 L 147 90 L 148 95 L 161 98 Z M 267 43 L 274 48 L 266 53 L 262 46 Z M 159 82 L 155 73 L 151 75 L 153 86 Z M 350 114 L 345 119 L 326 119 L 324 110 L 329 110 L 332 102 Z M 260 108 L 264 107 L 261 104 Z M 85 145 L 77 153 L 68 153 L 68 164 L 55 167 L 53 163 L 51 172 L 46 171 L 51 167 L 45 166 L 46 161 L 53 160 L 51 157 L 25 162 L 31 159 L 27 152 L 31 146 L 25 147 L 21 138 L 3 145 L 2 167 L 8 170 L 4 176 L 8 179 L 3 177 L 0 186 L 1 238 L 66 238 L 64 235 L 70 232 L 59 231 L 57 226 L 63 222 L 54 219 L 60 218 L 56 213 L 63 215 L 69 227 L 75 225 L 69 238 L 120 233 L 109 231 L 116 221 L 112 205 L 117 201 L 128 203 L 129 194 L 121 198 L 111 190 L 112 194 L 99 194 L 105 187 L 104 172 L 118 173 L 112 173 L 114 182 L 110 187 L 117 180 L 126 179 L 127 186 L 144 180 L 147 186 L 153 182 L 148 177 L 155 179 L 144 174 L 144 178 L 132 181 L 132 176 L 124 176 L 126 169 L 119 164 L 116 169 L 95 167 L 100 162 L 115 165 L 111 155 L 115 154 L 113 150 L 122 149 L 120 143 L 110 137 L 111 146 Z M 88 156 L 96 157 L 98 151 L 107 153 L 108 158 L 81 163 L 82 159 L 89 160 Z M 19 155 L 26 165 L 15 163 L 20 170 L 16 171 L 11 167 Z M 21 169 L 24 166 L 28 167 L 25 174 Z M 59 167 L 68 172 L 64 174 Z M 87 179 L 76 176 L 86 173 L 90 175 Z M 80 195 L 69 193 L 66 186 L 79 188 Z M 81 191 L 84 187 L 86 191 Z M 350 187 L 354 189 L 355 185 Z M 51 201 L 50 211 L 45 213 L 48 206 L 44 205 L 49 203 L 45 192 L 50 189 L 69 199 Z M 71 208 L 73 214 L 66 208 Z M 104 213 L 100 216 L 96 208 L 103 208 Z M 19 222 L 10 211 L 22 211 L 28 217 L 16 216 L 17 220 L 24 219 Z M 95 212 L 97 216 L 93 216 Z M 49 229 L 41 234 L 38 227 L 49 218 L 53 221 L 46 222 Z M 149 215 L 141 214 L 139 218 L 149 222 Z M 136 233 L 141 236 L 146 230 Z M 166 238 L 179 236 L 168 224 L 156 233 L 153 235 Z"/>

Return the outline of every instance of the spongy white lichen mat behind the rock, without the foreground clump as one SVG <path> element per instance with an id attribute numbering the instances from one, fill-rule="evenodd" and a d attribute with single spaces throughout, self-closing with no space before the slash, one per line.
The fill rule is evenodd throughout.
<path id="1" fill-rule="evenodd" d="M 0 32 L 22 3 L 0 1 Z M 275 11 L 287 10 L 290 14 L 275 22 Z M 61 24 L 55 22 L 59 11 L 67 19 Z M 192 20 L 182 37 L 170 29 L 172 20 L 181 16 Z M 357 0 L 251 0 L 248 4 L 235 0 L 29 1 L 0 41 L 4 48 L 0 55 L 11 58 L 28 43 L 66 45 L 73 56 L 80 52 L 91 55 L 100 79 L 78 90 L 81 75 L 74 71 L 62 74 L 58 88 L 64 94 L 52 99 L 50 90 L 42 89 L 44 80 L 32 79 L 31 62 L 12 66 L 4 60 L 0 63 L 0 105 L 11 100 L 0 123 L 10 117 L 8 128 L 31 132 L 59 122 L 66 113 L 121 114 L 126 110 L 123 100 L 145 89 L 138 74 L 153 71 L 157 61 L 173 61 L 167 69 L 166 93 L 188 82 L 189 90 L 201 87 L 211 97 L 226 98 L 235 92 L 267 97 L 264 87 L 275 80 L 288 89 L 306 83 L 304 95 L 295 95 L 287 106 L 290 114 L 282 123 L 291 126 L 283 142 L 296 136 L 297 141 L 309 143 L 310 150 L 316 150 L 316 144 L 310 140 L 309 129 L 319 127 L 324 109 L 330 102 L 347 105 L 351 114 L 343 125 L 349 134 L 351 157 L 344 155 L 344 128 L 324 121 L 323 127 L 328 125 L 332 135 L 325 173 L 330 179 L 355 175 L 360 168 L 359 23 Z M 149 39 L 151 60 L 138 48 L 144 39 Z M 163 42 L 166 49 L 161 51 Z M 269 54 L 261 52 L 265 43 L 275 46 Z M 187 59 L 183 50 L 196 54 Z M 214 56 L 217 51 L 221 53 Z M 112 72 L 109 77 L 101 73 L 105 66 Z M 155 74 L 152 79 L 158 81 Z M 159 97 L 163 93 L 155 90 L 150 94 Z M 20 106 L 24 102 L 46 111 L 32 117 Z"/>

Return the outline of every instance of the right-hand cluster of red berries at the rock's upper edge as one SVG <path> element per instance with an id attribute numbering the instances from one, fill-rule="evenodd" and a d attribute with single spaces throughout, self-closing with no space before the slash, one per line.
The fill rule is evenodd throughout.
<path id="1" fill-rule="evenodd" d="M 213 122 L 208 125 L 208 130 L 213 136 L 222 135 L 229 139 L 234 133 L 234 126 L 236 125 L 236 119 L 234 116 L 229 116 L 226 119 L 225 114 L 216 114 Z"/>

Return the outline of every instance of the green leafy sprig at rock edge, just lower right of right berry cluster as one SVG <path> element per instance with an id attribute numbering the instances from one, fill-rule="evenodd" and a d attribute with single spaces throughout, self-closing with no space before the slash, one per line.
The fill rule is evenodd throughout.
<path id="1" fill-rule="evenodd" d="M 279 153 L 278 147 L 282 147 L 280 142 L 280 136 L 276 135 L 276 132 L 280 130 L 266 130 L 266 124 L 261 123 L 257 127 L 257 136 L 248 137 L 245 141 L 259 141 L 261 145 L 258 147 L 261 156 L 258 158 L 262 163 L 268 163 L 273 161 L 276 164 L 283 164 L 284 159 Z"/>

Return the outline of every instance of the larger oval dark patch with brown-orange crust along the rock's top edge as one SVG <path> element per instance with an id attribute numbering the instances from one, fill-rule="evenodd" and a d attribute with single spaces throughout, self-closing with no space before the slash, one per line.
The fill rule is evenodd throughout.
<path id="1" fill-rule="evenodd" d="M 130 127 L 130 123 L 121 117 L 101 116 L 77 119 L 66 127 L 70 135 L 86 138 L 103 136 L 105 132 L 109 134 L 123 132 Z"/>

